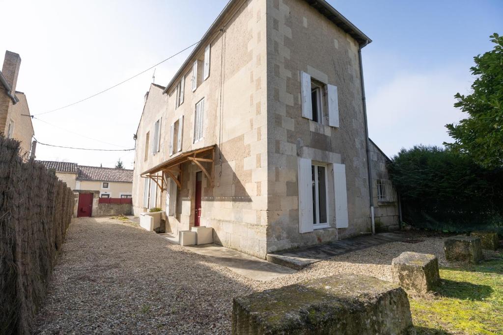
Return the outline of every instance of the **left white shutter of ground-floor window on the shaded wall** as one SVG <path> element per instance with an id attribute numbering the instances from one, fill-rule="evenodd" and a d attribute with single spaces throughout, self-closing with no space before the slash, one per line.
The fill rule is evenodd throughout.
<path id="1" fill-rule="evenodd" d="M 311 160 L 298 158 L 299 233 L 313 231 L 313 184 Z"/>

